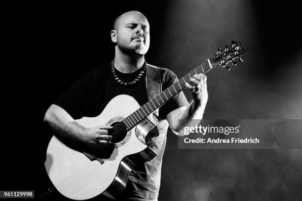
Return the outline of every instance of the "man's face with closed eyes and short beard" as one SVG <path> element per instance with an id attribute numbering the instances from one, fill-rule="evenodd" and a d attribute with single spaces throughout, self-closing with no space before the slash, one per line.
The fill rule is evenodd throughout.
<path id="1" fill-rule="evenodd" d="M 123 14 L 116 26 L 116 43 L 126 54 L 145 55 L 150 45 L 149 22 L 139 12 Z"/>

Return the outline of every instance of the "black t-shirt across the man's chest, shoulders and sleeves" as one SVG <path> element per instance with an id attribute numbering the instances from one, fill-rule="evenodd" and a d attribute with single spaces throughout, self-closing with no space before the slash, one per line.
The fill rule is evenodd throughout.
<path id="1" fill-rule="evenodd" d="M 118 77 L 125 82 L 134 80 L 140 73 L 141 68 L 132 73 L 122 73 L 116 70 Z M 120 94 L 132 96 L 140 105 L 148 101 L 145 75 L 135 86 L 124 87 L 119 85 L 113 77 L 111 64 L 105 64 L 92 69 L 82 78 L 76 81 L 54 104 L 64 108 L 74 119 L 98 116 L 107 103 Z M 160 68 L 162 91 L 175 83 L 178 79 L 175 73 L 167 68 Z M 182 93 L 159 109 L 161 119 L 174 109 L 188 105 Z"/>

